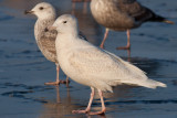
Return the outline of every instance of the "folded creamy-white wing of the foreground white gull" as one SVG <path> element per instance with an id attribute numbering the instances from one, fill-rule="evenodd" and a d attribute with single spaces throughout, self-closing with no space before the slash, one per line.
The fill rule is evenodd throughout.
<path id="1" fill-rule="evenodd" d="M 140 78 L 142 74 L 144 75 L 134 65 L 96 47 L 76 50 L 70 57 L 70 65 L 93 79 L 96 77 L 102 81 L 122 81 L 133 76 Z M 132 69 L 135 69 L 135 73 Z"/>

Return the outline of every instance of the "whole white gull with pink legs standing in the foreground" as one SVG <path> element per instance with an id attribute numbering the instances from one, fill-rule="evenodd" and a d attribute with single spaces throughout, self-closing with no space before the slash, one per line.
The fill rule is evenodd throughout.
<path id="1" fill-rule="evenodd" d="M 73 110 L 73 112 L 104 114 L 106 108 L 102 92 L 113 93 L 112 86 L 128 84 L 148 88 L 166 87 L 160 82 L 148 79 L 143 71 L 131 63 L 80 39 L 75 17 L 63 14 L 49 29 L 58 31 L 55 47 L 58 61 L 63 72 L 73 81 L 90 86 L 92 90 L 87 108 Z M 102 110 L 91 112 L 95 88 L 101 97 Z"/>

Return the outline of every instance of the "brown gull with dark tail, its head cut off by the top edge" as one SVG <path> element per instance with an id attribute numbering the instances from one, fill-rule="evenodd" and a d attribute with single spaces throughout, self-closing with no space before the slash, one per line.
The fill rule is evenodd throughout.
<path id="1" fill-rule="evenodd" d="M 131 29 L 135 29 L 145 22 L 165 22 L 173 24 L 174 22 L 166 20 L 164 17 L 155 14 L 150 9 L 142 6 L 136 0 L 92 0 L 91 11 L 94 19 L 106 28 L 101 47 L 108 35 L 108 31 L 126 31 L 127 45 L 117 47 L 117 50 L 131 49 Z"/>

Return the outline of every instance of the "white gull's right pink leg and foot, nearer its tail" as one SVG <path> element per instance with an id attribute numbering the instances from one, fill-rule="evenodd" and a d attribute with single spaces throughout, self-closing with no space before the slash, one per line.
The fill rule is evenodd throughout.
<path id="1" fill-rule="evenodd" d="M 90 115 L 103 115 L 106 111 L 106 107 L 104 105 L 104 99 L 103 99 L 103 93 L 101 89 L 98 89 L 98 95 L 101 97 L 101 103 L 102 103 L 102 110 L 101 111 L 96 111 L 96 112 L 90 112 Z"/>

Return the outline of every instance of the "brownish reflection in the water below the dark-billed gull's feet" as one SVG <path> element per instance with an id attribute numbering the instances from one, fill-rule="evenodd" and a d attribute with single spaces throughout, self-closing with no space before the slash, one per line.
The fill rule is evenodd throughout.
<path id="1" fill-rule="evenodd" d="M 71 118 L 83 118 L 88 117 L 85 114 L 83 115 L 73 115 L 73 109 L 79 109 L 81 106 L 79 106 L 79 103 L 73 103 L 73 98 L 70 95 L 70 88 L 66 88 L 66 96 L 60 96 L 60 87 L 55 87 L 56 90 L 56 99 L 53 100 L 46 100 L 48 103 L 43 104 L 43 111 L 40 115 L 40 118 L 63 118 L 63 117 L 71 117 Z M 101 118 L 106 118 L 105 115 L 100 116 Z"/>

